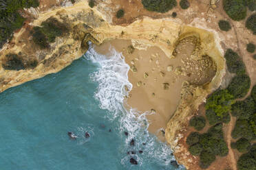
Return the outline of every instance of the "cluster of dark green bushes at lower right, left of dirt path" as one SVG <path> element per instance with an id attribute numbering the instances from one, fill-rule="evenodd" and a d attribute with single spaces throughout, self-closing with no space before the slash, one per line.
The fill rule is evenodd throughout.
<path id="1" fill-rule="evenodd" d="M 224 141 L 222 123 L 210 127 L 208 132 L 192 132 L 187 138 L 189 151 L 193 156 L 200 156 L 200 167 L 206 169 L 215 160 L 215 156 L 226 156 L 228 147 Z"/>

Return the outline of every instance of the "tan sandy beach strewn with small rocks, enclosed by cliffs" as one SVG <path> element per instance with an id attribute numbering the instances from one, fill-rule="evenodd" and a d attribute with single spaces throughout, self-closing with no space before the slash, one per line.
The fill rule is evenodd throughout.
<path id="1" fill-rule="evenodd" d="M 196 61 L 189 57 L 195 48 L 192 41 L 186 39 L 183 41 L 185 45 L 180 43 L 173 59 L 167 58 L 158 47 L 130 50 L 131 40 L 110 40 L 96 47 L 98 53 L 104 54 L 111 45 L 125 56 L 125 62 L 131 67 L 129 82 L 133 84 L 127 104 L 140 112 L 155 112 L 147 116 L 149 132 L 162 141 L 164 132 L 161 130 L 165 130 L 178 107 L 182 83 L 204 84 L 215 75 L 213 64 L 209 63 L 210 69 L 203 68 L 204 59 Z"/>

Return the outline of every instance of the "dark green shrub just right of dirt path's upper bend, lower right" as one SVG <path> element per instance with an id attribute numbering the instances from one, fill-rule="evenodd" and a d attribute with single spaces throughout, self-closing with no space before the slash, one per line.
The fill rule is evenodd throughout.
<path id="1" fill-rule="evenodd" d="M 249 121 L 246 119 L 238 119 L 236 121 L 231 135 L 233 138 L 246 138 L 248 141 L 252 141 L 256 138 Z"/>

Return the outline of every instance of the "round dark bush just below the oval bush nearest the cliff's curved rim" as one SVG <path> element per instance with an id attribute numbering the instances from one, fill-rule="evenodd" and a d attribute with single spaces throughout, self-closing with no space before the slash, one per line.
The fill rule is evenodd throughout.
<path id="1" fill-rule="evenodd" d="M 233 95 L 235 99 L 244 97 L 250 88 L 250 77 L 246 74 L 233 77 L 231 83 L 228 84 L 228 93 Z"/>

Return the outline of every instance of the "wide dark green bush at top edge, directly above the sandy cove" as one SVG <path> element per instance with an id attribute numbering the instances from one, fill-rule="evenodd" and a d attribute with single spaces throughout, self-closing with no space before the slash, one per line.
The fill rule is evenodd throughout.
<path id="1" fill-rule="evenodd" d="M 146 10 L 155 12 L 168 12 L 177 5 L 176 0 L 142 0 L 142 5 Z"/>

